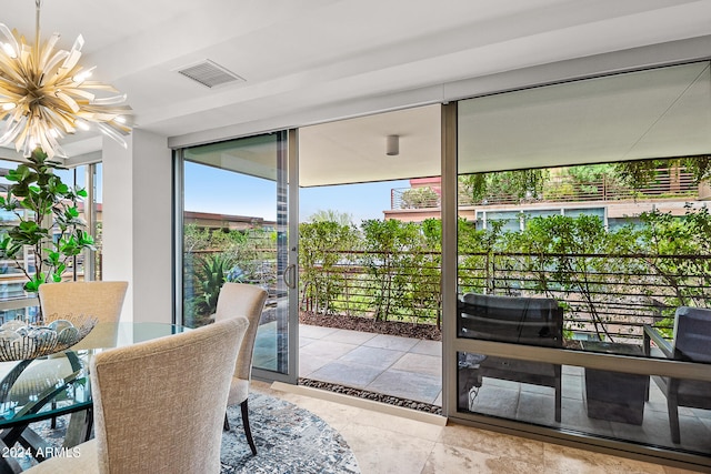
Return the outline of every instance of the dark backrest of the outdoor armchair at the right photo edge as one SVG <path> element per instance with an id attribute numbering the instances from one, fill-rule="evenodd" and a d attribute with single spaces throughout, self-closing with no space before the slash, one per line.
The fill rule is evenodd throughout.
<path id="1" fill-rule="evenodd" d="M 690 306 L 677 309 L 674 359 L 711 362 L 711 310 Z"/>

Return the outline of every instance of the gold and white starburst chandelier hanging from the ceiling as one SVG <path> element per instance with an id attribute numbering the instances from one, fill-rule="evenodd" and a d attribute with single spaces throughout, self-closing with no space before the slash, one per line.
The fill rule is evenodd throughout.
<path id="1" fill-rule="evenodd" d="M 126 94 L 98 81 L 88 81 L 94 67 L 79 65 L 84 39 L 70 51 L 57 50 L 59 33 L 40 44 L 40 3 L 36 2 L 34 46 L 17 30 L 0 23 L 0 145 L 14 142 L 29 157 L 40 147 L 49 158 L 67 158 L 58 140 L 78 129 L 98 129 L 127 147 L 131 108 Z"/>

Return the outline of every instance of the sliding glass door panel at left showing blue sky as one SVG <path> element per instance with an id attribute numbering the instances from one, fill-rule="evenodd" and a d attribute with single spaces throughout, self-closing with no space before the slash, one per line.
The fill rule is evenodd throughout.
<path id="1" fill-rule="evenodd" d="M 269 133 L 181 150 L 179 167 L 182 323 L 210 323 L 224 282 L 266 289 L 253 366 L 279 380 L 296 377 L 289 370 L 296 266 L 289 261 L 287 149 L 287 132 Z"/>

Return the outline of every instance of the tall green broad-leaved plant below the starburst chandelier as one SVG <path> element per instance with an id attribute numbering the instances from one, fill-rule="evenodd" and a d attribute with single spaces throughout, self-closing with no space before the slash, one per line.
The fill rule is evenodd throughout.
<path id="1" fill-rule="evenodd" d="M 78 210 L 87 192 L 64 184 L 54 174 L 57 165 L 47 158 L 36 148 L 27 163 L 8 172 L 6 179 L 12 184 L 0 196 L 0 209 L 19 221 L 0 238 L 0 258 L 13 261 L 27 276 L 23 288 L 28 293 L 37 293 L 42 283 L 60 282 L 70 259 L 84 249 L 94 250 Z M 26 248 L 34 255 L 33 265 L 24 263 Z"/>

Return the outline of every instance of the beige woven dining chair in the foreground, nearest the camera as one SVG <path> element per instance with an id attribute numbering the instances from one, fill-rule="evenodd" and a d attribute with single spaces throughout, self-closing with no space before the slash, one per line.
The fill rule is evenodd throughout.
<path id="1" fill-rule="evenodd" d="M 222 417 L 248 326 L 232 317 L 98 353 L 90 363 L 96 437 L 27 472 L 219 473 Z"/>

